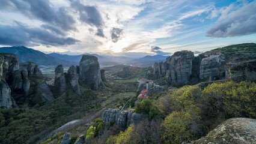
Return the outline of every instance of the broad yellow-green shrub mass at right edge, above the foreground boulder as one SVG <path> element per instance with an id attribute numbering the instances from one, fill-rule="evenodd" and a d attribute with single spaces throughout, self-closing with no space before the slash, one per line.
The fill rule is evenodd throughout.
<path id="1" fill-rule="evenodd" d="M 209 117 L 223 114 L 225 119 L 256 118 L 256 84 L 254 82 L 213 83 L 204 88 L 202 100 L 204 110 Z"/>

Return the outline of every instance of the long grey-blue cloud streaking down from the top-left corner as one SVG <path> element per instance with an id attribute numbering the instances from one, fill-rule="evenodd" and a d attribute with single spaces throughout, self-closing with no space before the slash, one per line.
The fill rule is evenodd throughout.
<path id="1" fill-rule="evenodd" d="M 63 31 L 75 30 L 75 20 L 67 14 L 66 8 L 53 8 L 49 0 L 2 0 L 1 10 L 13 8 L 19 10 L 25 16 L 41 20 L 50 25 L 58 26 Z"/>

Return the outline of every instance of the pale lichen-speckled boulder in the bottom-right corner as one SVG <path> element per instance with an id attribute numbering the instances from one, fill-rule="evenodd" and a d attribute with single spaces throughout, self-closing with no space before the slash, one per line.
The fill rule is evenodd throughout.
<path id="1" fill-rule="evenodd" d="M 191 143 L 256 143 L 256 119 L 231 118 Z"/>

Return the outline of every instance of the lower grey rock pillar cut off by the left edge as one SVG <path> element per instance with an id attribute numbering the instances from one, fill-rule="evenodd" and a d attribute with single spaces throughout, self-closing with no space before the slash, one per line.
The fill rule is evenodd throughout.
<path id="1" fill-rule="evenodd" d="M 0 76 L 0 108 L 10 109 L 13 105 L 11 101 L 11 89 L 5 82 L 4 77 Z"/>

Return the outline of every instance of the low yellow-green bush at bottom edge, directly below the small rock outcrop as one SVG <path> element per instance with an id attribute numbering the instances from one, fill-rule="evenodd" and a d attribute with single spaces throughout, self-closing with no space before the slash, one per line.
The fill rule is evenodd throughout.
<path id="1" fill-rule="evenodd" d="M 131 144 L 136 143 L 138 133 L 135 131 L 134 125 L 130 125 L 126 131 L 121 131 L 118 135 L 110 136 L 106 141 L 107 144 Z"/>

